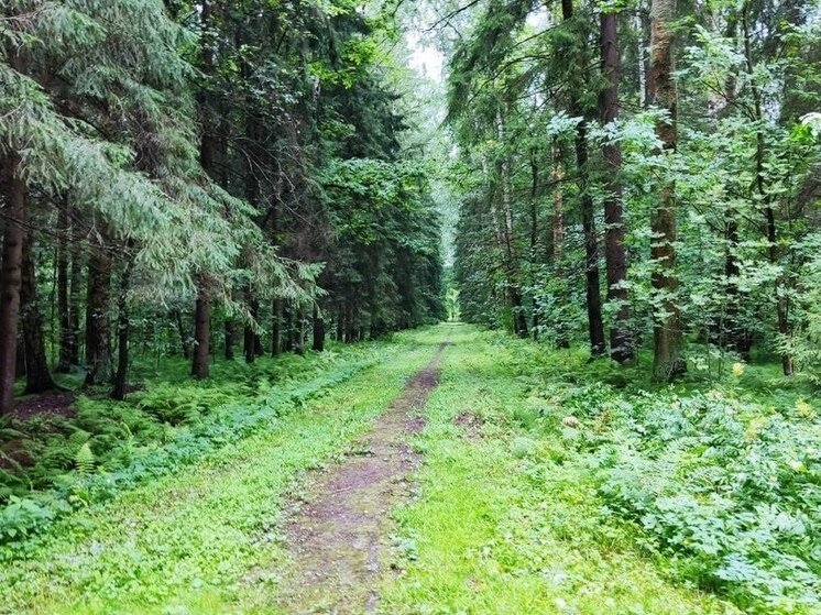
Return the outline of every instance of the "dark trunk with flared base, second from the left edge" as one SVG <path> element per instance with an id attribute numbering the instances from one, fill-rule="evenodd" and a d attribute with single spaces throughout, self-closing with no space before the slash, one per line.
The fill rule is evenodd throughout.
<path id="1" fill-rule="evenodd" d="M 32 256 L 32 233 L 26 233 L 23 242 L 20 279 L 20 314 L 25 347 L 26 395 L 57 388 L 52 380 L 52 374 L 48 372 L 48 359 L 45 354 L 43 316 L 37 306 L 37 281 Z"/>

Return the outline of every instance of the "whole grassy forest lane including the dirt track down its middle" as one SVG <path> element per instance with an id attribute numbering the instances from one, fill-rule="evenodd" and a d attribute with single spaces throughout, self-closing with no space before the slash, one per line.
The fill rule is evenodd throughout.
<path id="1" fill-rule="evenodd" d="M 585 436 L 616 406 L 574 355 L 462 325 L 374 348 L 377 362 L 265 428 L 7 556 L 0 613 L 818 612 L 811 580 L 762 606 L 616 514 Z M 571 376 L 613 410 L 588 419 L 558 399 Z"/>

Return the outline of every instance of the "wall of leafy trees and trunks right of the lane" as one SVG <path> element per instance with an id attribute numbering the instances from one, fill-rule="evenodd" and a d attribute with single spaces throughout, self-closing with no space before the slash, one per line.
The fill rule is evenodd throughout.
<path id="1" fill-rule="evenodd" d="M 440 23 L 462 316 L 660 381 L 818 377 L 817 1 L 490 1 Z M 734 358 L 734 359 L 733 359 Z"/>

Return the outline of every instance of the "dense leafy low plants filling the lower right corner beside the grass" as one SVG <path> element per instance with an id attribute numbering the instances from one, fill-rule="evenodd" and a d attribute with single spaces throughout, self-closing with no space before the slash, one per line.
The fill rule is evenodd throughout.
<path id="1" fill-rule="evenodd" d="M 603 384 L 543 396 L 581 421 L 566 443 L 605 513 L 644 528 L 680 574 L 749 609 L 821 606 L 821 425 L 806 402 L 776 410 L 732 392 Z"/>

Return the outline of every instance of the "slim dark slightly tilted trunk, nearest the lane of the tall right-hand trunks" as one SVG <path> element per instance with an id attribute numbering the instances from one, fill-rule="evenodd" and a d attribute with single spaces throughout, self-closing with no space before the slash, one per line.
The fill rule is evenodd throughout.
<path id="1" fill-rule="evenodd" d="M 573 20 L 572 0 L 561 0 L 561 18 L 568 23 Z M 578 58 L 572 58 L 578 63 Z M 581 67 L 579 67 L 581 68 Z M 570 114 L 583 117 L 583 108 L 580 101 L 579 84 L 570 87 Z M 590 332 L 590 358 L 603 356 L 606 352 L 604 341 L 604 322 L 602 320 L 601 283 L 599 279 L 599 238 L 595 231 L 595 210 L 593 198 L 588 189 L 588 129 L 584 120 L 576 127 L 576 163 L 579 174 L 579 206 L 581 210 L 581 223 L 584 232 L 584 273 L 588 308 L 588 329 Z"/>

